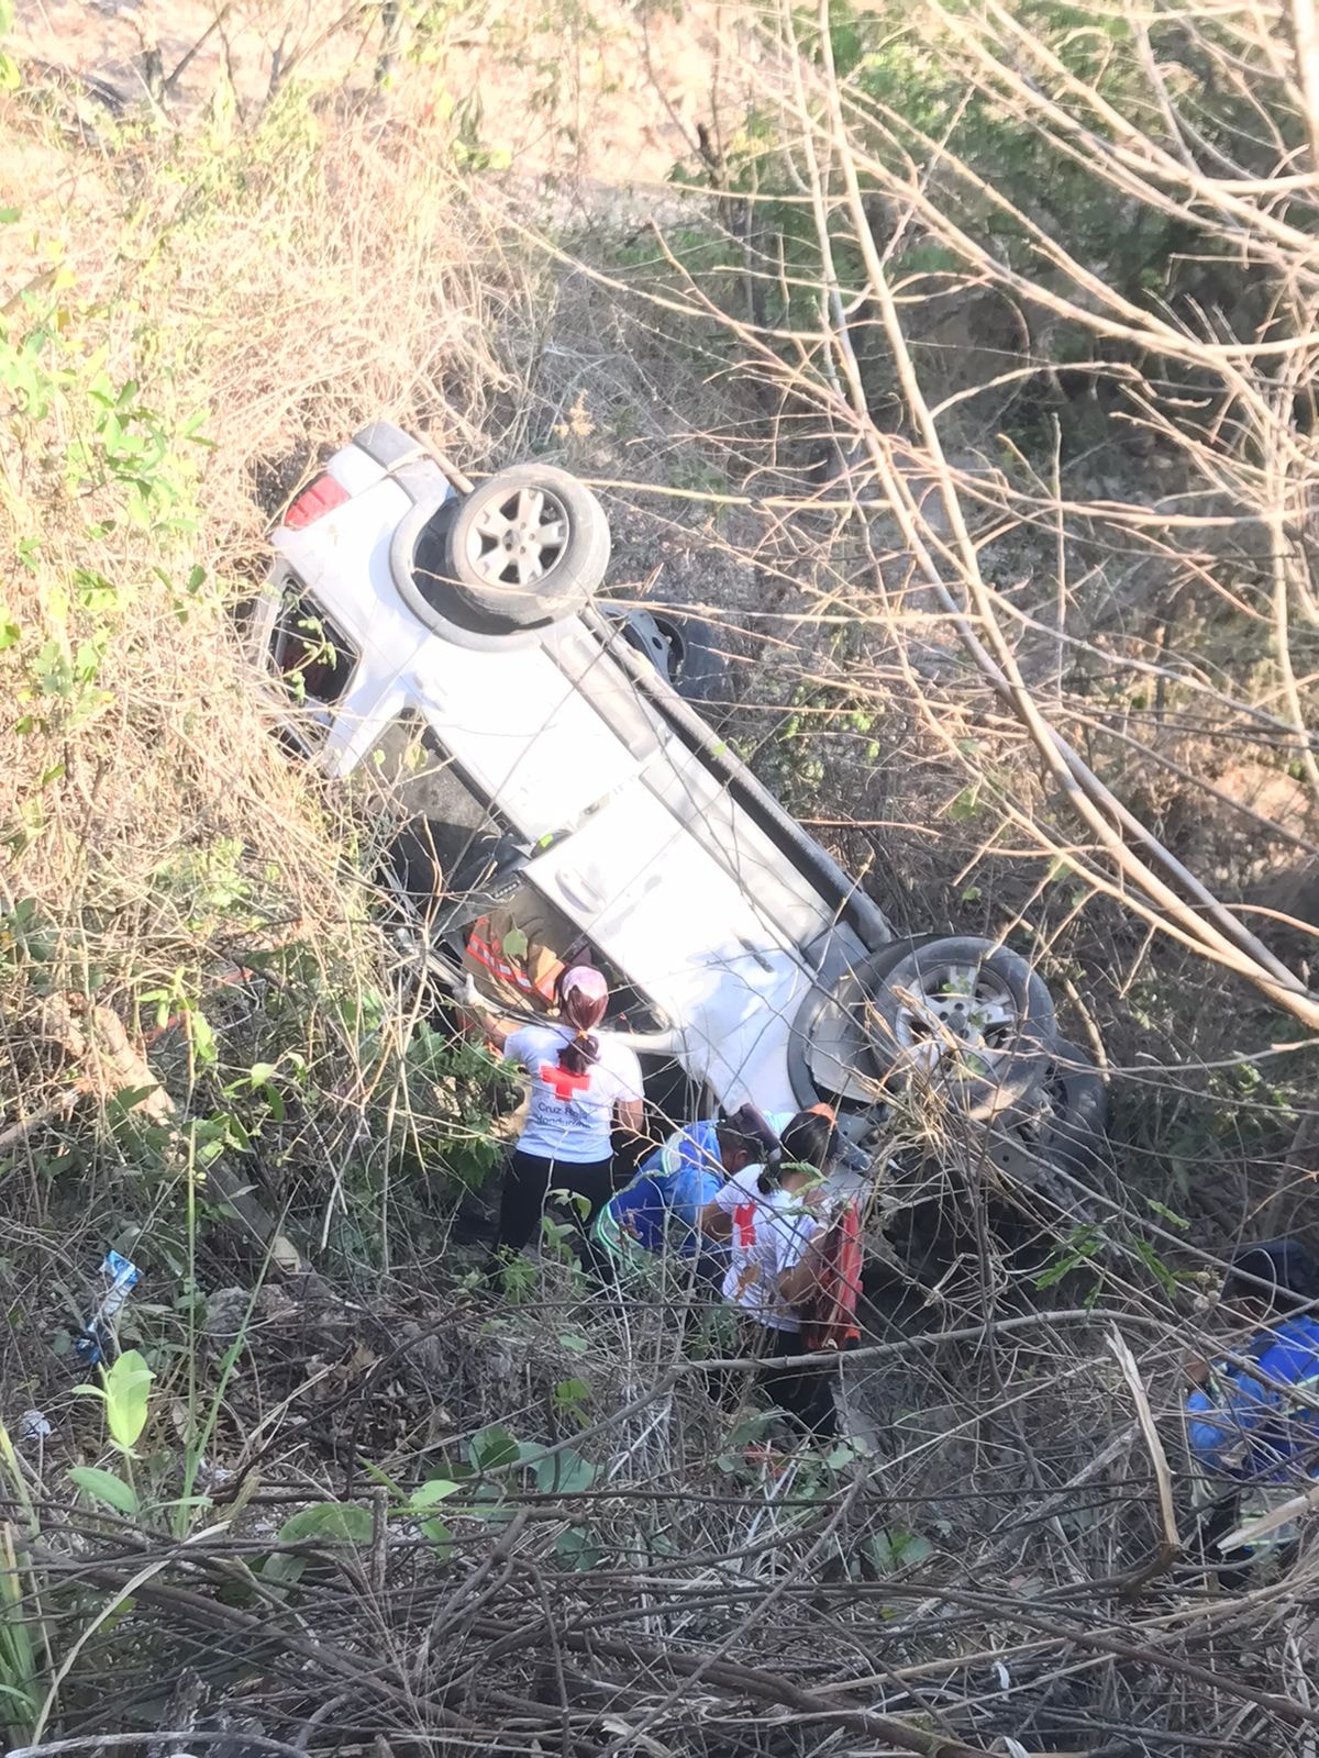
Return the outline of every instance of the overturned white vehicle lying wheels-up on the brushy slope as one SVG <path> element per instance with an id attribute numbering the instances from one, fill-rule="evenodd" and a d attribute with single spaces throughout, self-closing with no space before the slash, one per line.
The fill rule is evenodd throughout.
<path id="1" fill-rule="evenodd" d="M 397 890 L 443 893 L 433 976 L 461 992 L 463 930 L 533 888 L 617 981 L 668 1115 L 825 1099 L 864 1148 L 916 1086 L 1009 1180 L 1085 1176 L 1104 1086 L 1045 983 L 990 941 L 900 939 L 784 814 L 693 707 L 726 682 L 709 635 L 596 605 L 608 524 L 580 482 L 533 462 L 473 487 L 378 422 L 273 545 L 253 628 L 288 737 L 346 775 L 399 716 L 424 726 L 443 881 L 419 897 L 404 861 Z"/>

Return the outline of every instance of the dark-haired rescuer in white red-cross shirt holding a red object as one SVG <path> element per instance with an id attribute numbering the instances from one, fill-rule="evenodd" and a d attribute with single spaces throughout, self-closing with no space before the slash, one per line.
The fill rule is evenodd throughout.
<path id="1" fill-rule="evenodd" d="M 737 1173 L 700 1213 L 702 1232 L 728 1241 L 723 1296 L 740 1310 L 749 1355 L 798 1355 L 800 1308 L 820 1282 L 828 1234 L 814 1213 L 839 1151 L 827 1106 L 798 1111 L 763 1166 Z M 837 1435 L 834 1375 L 821 1368 L 765 1368 L 760 1389 L 816 1440 Z"/>

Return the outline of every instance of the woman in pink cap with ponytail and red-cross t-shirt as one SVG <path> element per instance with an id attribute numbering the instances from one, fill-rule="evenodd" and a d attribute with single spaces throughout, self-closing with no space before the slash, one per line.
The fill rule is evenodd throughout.
<path id="1" fill-rule="evenodd" d="M 586 1227 L 608 1201 L 614 1123 L 642 1132 L 642 1071 L 635 1051 L 596 1032 L 608 986 L 591 965 L 573 965 L 557 983 L 559 1020 L 522 1025 L 487 1021 L 496 1048 L 531 1078 L 526 1123 L 503 1180 L 496 1255 L 521 1252 L 536 1229 L 549 1190 L 586 1197 Z"/>

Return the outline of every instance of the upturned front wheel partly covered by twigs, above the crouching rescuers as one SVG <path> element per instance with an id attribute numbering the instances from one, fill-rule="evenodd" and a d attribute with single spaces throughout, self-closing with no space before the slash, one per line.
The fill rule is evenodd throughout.
<path id="1" fill-rule="evenodd" d="M 1053 999 L 1018 953 L 976 937 L 937 939 L 864 986 L 871 1064 L 890 1086 L 929 1079 L 973 1120 L 1039 1092 Z"/>

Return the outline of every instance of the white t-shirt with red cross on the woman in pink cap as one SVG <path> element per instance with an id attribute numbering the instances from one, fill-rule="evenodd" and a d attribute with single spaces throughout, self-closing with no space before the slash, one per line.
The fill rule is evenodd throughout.
<path id="1" fill-rule="evenodd" d="M 582 1166 L 608 1159 L 614 1106 L 642 1097 L 642 1067 L 626 1044 L 596 1032 L 600 1060 L 584 1074 L 570 1074 L 559 1067 L 559 1051 L 573 1035 L 566 1025 L 524 1025 L 503 1053 L 531 1076 L 526 1129 L 517 1146 L 545 1160 Z"/>

